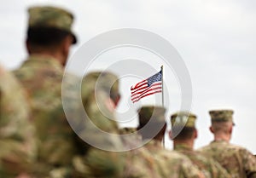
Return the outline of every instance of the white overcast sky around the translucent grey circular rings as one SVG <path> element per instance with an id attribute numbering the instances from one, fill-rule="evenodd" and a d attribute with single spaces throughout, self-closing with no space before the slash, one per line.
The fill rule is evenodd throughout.
<path id="1" fill-rule="evenodd" d="M 26 59 L 24 47 L 26 9 L 38 4 L 59 5 L 75 15 L 73 27 L 79 37 L 79 43 L 73 47 L 71 55 L 90 38 L 113 29 L 138 28 L 166 38 L 177 49 L 189 70 L 193 87 L 192 112 L 198 116 L 199 138 L 195 147 L 212 141 L 212 135 L 208 131 L 210 125 L 208 111 L 216 108 L 231 108 L 235 111 L 236 122 L 231 142 L 245 146 L 256 154 L 255 1 L 5 1 L 0 6 L 0 60 L 9 69 L 20 66 L 20 63 Z M 148 62 L 149 55 L 145 51 L 138 52 L 137 49 L 126 48 L 122 51 L 118 49 L 110 51 L 104 54 L 104 58 L 108 60 L 110 56 L 116 59 L 136 58 Z M 150 56 L 154 58 L 152 54 Z M 99 64 L 104 68 L 106 60 L 104 63 L 99 59 L 94 66 Z M 160 66 L 154 66 L 155 70 L 146 72 L 142 78 L 148 77 L 150 73 L 154 74 L 159 68 Z M 170 113 L 179 109 L 181 92 L 175 75 L 171 75 L 170 69 L 166 72 L 165 78 L 168 78 L 166 90 L 170 93 L 167 96 L 170 105 L 166 106 L 168 109 L 166 117 L 169 118 Z M 123 100 L 119 106 L 120 112 L 130 110 L 129 89 L 131 84 L 137 82 L 139 82 L 138 78 L 126 78 L 121 81 Z M 145 99 L 143 102 L 150 104 L 151 99 Z M 172 142 L 166 142 L 168 147 L 172 147 Z"/>

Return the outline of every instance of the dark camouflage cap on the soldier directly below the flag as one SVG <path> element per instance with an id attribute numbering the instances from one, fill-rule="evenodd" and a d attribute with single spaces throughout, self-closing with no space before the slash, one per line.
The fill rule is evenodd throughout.
<path id="1" fill-rule="evenodd" d="M 147 124 L 150 119 L 152 119 L 152 122 L 166 122 L 166 108 L 162 106 L 143 106 L 140 109 L 138 109 L 137 112 L 139 115 L 140 126 Z"/>

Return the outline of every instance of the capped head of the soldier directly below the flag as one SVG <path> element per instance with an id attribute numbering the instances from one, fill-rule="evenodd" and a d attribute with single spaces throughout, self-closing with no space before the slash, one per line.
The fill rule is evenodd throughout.
<path id="1" fill-rule="evenodd" d="M 166 109 L 162 106 L 143 106 L 137 112 L 139 116 L 137 130 L 143 139 L 162 141 L 166 133 Z"/>

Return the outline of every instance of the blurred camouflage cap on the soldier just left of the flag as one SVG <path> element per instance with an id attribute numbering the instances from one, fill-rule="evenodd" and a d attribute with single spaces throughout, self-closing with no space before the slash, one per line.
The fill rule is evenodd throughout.
<path id="1" fill-rule="evenodd" d="M 96 90 L 102 90 L 113 100 L 114 106 L 119 104 L 119 78 L 112 72 L 90 72 L 83 78 L 86 88 L 83 95 L 91 95 Z"/>

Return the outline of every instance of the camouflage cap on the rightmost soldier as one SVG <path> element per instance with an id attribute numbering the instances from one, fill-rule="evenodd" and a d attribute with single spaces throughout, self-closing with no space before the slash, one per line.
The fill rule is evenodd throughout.
<path id="1" fill-rule="evenodd" d="M 233 123 L 233 111 L 232 110 L 212 110 L 209 112 L 212 122 L 232 122 Z M 235 124 L 235 123 L 233 123 Z"/>

